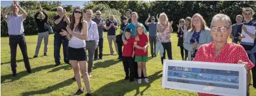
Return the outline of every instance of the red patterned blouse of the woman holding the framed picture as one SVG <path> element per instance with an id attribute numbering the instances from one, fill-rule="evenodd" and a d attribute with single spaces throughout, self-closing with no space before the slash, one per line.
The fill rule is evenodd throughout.
<path id="1" fill-rule="evenodd" d="M 215 57 L 214 42 L 211 44 L 204 44 L 197 50 L 196 57 L 193 61 L 203 61 L 212 63 L 232 63 L 237 64 L 239 60 L 247 62 L 249 65 L 249 70 L 254 67 L 254 64 L 249 60 L 245 49 L 241 45 L 228 42 L 224 45 L 220 54 Z M 199 96 L 218 96 L 213 94 L 203 94 L 198 93 Z"/>

